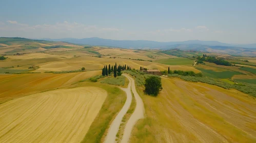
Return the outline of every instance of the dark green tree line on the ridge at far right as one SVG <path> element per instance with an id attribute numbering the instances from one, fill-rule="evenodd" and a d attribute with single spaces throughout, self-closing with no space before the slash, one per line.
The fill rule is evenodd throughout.
<path id="1" fill-rule="evenodd" d="M 203 57 L 198 56 L 196 59 L 198 60 L 198 63 L 202 63 L 202 61 L 206 61 L 206 62 L 218 64 L 218 65 L 231 66 L 231 64 L 228 61 L 223 59 L 217 59 L 216 57 L 203 55 Z"/>

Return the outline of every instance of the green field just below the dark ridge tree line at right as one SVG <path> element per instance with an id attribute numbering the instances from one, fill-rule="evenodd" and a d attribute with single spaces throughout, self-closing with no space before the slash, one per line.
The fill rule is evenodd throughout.
<path id="1" fill-rule="evenodd" d="M 238 71 L 213 71 L 210 69 L 199 68 L 197 69 L 202 71 L 203 76 L 211 77 L 211 78 L 220 78 L 220 79 L 229 79 L 232 78 L 234 75 L 242 75 Z"/>

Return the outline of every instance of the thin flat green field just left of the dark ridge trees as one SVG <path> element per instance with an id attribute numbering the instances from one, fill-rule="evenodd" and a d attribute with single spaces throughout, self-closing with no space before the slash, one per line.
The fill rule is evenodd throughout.
<path id="1" fill-rule="evenodd" d="M 155 62 L 168 64 L 168 65 L 192 65 L 194 63 L 193 60 L 190 60 L 187 58 L 162 59 L 162 60 L 157 60 Z"/>

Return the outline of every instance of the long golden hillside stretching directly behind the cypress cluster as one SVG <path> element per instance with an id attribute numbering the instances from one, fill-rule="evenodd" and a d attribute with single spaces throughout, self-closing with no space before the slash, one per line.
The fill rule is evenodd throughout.
<path id="1" fill-rule="evenodd" d="M 61 70 L 76 70 L 81 67 L 85 67 L 85 69 L 95 70 L 102 69 L 104 65 L 114 65 L 115 62 L 121 65 L 129 65 L 131 68 L 140 69 L 141 66 L 148 69 L 159 69 L 159 70 L 167 70 L 170 67 L 171 70 L 192 70 L 195 73 L 199 73 L 200 70 L 194 68 L 193 66 L 186 65 L 165 65 L 161 63 L 149 62 L 149 61 L 136 61 L 129 59 L 120 59 L 120 58 L 96 58 L 96 57 L 74 57 L 71 59 L 61 60 L 61 61 L 53 61 L 48 63 L 38 64 L 40 69 L 35 71 L 61 71 Z"/>

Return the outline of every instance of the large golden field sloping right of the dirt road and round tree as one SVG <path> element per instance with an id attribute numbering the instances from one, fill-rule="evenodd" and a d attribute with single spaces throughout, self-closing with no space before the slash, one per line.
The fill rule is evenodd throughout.
<path id="1" fill-rule="evenodd" d="M 132 142 L 255 142 L 256 100 L 237 90 L 162 78 L 156 98 L 141 92 L 144 120 Z"/>

